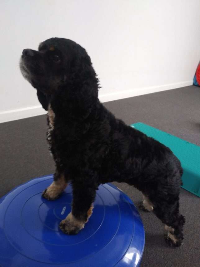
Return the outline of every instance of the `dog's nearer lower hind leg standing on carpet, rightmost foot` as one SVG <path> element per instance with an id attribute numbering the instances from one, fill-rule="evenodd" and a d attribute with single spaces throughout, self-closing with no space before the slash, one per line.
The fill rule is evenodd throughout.
<path id="1" fill-rule="evenodd" d="M 183 241 L 184 216 L 179 213 L 179 200 L 173 204 L 160 200 L 154 206 L 153 212 L 165 224 L 165 240 L 169 246 L 180 246 Z"/>

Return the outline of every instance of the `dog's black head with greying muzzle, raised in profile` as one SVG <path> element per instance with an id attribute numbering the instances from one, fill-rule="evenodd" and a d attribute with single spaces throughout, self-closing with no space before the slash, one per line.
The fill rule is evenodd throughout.
<path id="1" fill-rule="evenodd" d="M 85 80 L 96 77 L 85 49 L 64 38 L 47 39 L 39 44 L 38 51 L 24 49 L 20 70 L 38 90 L 42 105 L 46 96 L 54 94 L 59 88 L 77 89 Z M 45 104 L 43 108 L 47 109 Z"/>

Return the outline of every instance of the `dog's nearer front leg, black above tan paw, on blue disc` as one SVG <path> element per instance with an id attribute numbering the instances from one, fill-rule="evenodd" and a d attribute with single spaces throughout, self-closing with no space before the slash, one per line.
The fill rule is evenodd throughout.
<path id="1" fill-rule="evenodd" d="M 95 186 L 73 183 L 72 210 L 67 217 L 61 221 L 60 229 L 66 234 L 77 234 L 84 228 L 92 215 L 93 201 L 96 196 Z"/>

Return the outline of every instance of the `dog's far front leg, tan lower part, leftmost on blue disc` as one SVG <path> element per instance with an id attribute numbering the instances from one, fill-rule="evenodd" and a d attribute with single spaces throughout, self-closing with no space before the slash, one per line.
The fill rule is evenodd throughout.
<path id="1" fill-rule="evenodd" d="M 66 186 L 67 182 L 64 174 L 56 170 L 56 173 L 54 174 L 54 181 L 43 191 L 42 196 L 48 200 L 55 200 L 65 190 Z"/>

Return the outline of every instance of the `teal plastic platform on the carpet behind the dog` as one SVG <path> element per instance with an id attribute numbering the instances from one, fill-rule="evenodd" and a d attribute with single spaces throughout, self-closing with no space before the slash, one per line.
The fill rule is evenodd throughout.
<path id="1" fill-rule="evenodd" d="M 163 132 L 141 122 L 131 127 L 168 146 L 183 167 L 183 188 L 200 197 L 200 146 Z"/>

